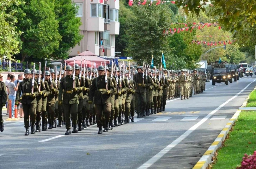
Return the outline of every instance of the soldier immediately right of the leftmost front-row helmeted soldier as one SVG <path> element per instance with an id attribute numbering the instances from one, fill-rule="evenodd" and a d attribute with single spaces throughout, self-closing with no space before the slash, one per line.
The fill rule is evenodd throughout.
<path id="1" fill-rule="evenodd" d="M 31 70 L 31 74 L 32 73 L 33 73 L 33 70 Z M 42 73 L 42 71 L 41 71 L 41 73 Z M 39 81 L 38 78 L 39 78 L 39 70 L 38 71 L 35 70 L 35 81 L 37 82 L 38 90 L 39 90 L 39 94 L 38 94 L 38 96 L 36 96 L 36 102 L 37 102 L 37 104 L 36 104 L 36 132 L 41 131 L 41 129 L 40 129 L 40 127 L 41 127 L 41 111 L 42 111 L 42 103 L 43 103 L 42 95 L 44 95 L 46 93 L 46 88 L 44 86 L 43 80 L 41 80 L 41 77 L 40 77 L 40 81 Z"/>

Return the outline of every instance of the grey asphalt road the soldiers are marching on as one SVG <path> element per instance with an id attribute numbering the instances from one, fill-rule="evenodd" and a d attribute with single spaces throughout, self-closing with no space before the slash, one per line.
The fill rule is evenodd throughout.
<path id="1" fill-rule="evenodd" d="M 92 126 L 65 136 L 63 126 L 24 136 L 22 120 L 5 121 L 0 169 L 190 169 L 255 86 L 256 76 L 228 85 L 208 82 L 199 95 L 167 100 L 165 112 L 101 135 Z"/>

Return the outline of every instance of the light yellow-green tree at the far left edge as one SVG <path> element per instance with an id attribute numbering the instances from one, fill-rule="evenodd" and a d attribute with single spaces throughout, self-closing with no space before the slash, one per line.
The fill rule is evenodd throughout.
<path id="1" fill-rule="evenodd" d="M 1 0 L 0 3 L 0 56 L 8 59 L 19 53 L 19 36 L 22 33 L 16 29 L 17 6 L 22 0 Z"/>

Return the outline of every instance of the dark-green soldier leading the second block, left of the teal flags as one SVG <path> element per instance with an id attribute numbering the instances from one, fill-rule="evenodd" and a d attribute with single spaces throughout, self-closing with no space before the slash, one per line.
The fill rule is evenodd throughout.
<path id="1" fill-rule="evenodd" d="M 137 118 L 143 117 L 143 112 L 145 111 L 146 107 L 146 75 L 143 74 L 142 67 L 137 67 L 138 73 L 133 76 L 133 80 L 136 82 L 136 111 L 137 111 Z"/>

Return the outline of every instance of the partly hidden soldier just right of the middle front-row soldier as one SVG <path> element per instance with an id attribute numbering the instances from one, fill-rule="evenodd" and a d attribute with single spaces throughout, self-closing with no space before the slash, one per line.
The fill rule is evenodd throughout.
<path id="1" fill-rule="evenodd" d="M 84 129 L 83 126 L 83 100 L 84 100 L 84 95 L 83 91 L 86 90 L 85 88 L 85 83 L 84 83 L 84 77 L 80 74 L 80 68 L 79 64 L 75 64 L 75 76 L 78 77 L 79 80 L 79 85 L 80 85 L 80 91 L 77 92 L 78 94 L 78 131 L 82 131 Z"/>

